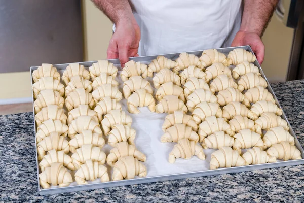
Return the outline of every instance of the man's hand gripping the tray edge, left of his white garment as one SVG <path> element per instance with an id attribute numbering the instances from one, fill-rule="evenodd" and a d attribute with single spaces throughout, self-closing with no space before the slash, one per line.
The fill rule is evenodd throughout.
<path id="1" fill-rule="evenodd" d="M 107 49 L 107 59 L 119 58 L 124 67 L 128 57 L 138 56 L 139 41 L 140 29 L 136 20 L 119 21 Z"/>

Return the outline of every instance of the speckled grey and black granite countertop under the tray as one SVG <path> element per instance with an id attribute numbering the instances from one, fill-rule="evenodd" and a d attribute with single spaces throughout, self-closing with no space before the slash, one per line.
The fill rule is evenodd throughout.
<path id="1" fill-rule="evenodd" d="M 304 145 L 304 80 L 272 87 Z M 304 166 L 40 196 L 32 113 L 0 116 L 0 201 L 303 201 Z"/>

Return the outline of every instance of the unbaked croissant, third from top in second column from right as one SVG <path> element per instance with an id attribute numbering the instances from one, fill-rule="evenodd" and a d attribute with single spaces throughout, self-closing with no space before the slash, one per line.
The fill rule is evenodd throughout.
<path id="1" fill-rule="evenodd" d="M 219 75 L 210 83 L 210 90 L 213 93 L 228 87 L 238 88 L 238 85 L 233 81 L 233 78 L 229 78 L 227 75 Z"/>

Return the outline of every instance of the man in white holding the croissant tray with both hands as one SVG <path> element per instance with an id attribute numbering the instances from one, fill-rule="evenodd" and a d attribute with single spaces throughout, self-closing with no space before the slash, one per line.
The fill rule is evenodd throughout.
<path id="1" fill-rule="evenodd" d="M 250 45 L 264 60 L 261 36 L 277 0 L 92 0 L 115 23 L 107 58 Z"/>

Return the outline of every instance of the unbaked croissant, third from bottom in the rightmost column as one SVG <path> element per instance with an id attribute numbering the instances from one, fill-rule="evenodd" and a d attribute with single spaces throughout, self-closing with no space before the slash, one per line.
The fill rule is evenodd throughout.
<path id="1" fill-rule="evenodd" d="M 280 116 L 277 116 L 273 112 L 263 113 L 255 123 L 255 132 L 262 134 L 262 130 L 268 130 L 272 127 L 282 126 L 285 130 L 289 131 L 287 122 L 282 119 Z"/>

